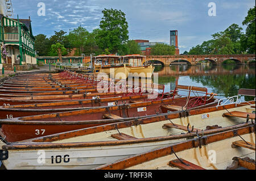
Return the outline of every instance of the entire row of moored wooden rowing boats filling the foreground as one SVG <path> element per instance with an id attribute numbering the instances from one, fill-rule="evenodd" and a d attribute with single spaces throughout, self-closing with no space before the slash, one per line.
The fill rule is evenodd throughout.
<path id="1" fill-rule="evenodd" d="M 205 87 L 164 88 L 71 71 L 17 74 L 0 86 L 0 161 L 6 169 L 255 169 L 255 90 L 217 99 Z"/>

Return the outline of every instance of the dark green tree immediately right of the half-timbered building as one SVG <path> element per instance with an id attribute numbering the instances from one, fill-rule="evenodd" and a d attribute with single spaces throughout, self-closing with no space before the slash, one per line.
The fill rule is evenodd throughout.
<path id="1" fill-rule="evenodd" d="M 35 36 L 35 50 L 38 56 L 48 56 L 51 50 L 51 42 L 46 35 L 39 34 Z"/>

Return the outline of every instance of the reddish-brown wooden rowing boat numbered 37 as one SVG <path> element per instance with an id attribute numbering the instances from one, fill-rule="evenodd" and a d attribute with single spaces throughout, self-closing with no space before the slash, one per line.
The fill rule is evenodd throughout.
<path id="1" fill-rule="evenodd" d="M 192 97 L 191 100 L 194 100 L 194 98 Z M 123 102 L 121 105 L 112 107 L 98 107 L 78 111 L 67 110 L 65 112 L 16 118 L 13 118 L 14 116 L 10 115 L 8 112 L 5 112 L 5 115 L 3 116 L 7 116 L 9 119 L 0 120 L 0 124 L 2 125 L 0 130 L 2 132 L 2 137 L 6 136 L 7 141 L 14 142 L 35 137 L 35 129 L 39 128 L 43 129 L 47 127 L 44 135 L 49 135 L 53 133 L 71 131 L 73 129 L 108 124 L 111 122 L 110 120 L 114 120 L 116 122 L 118 119 L 135 119 L 135 117 L 147 117 L 161 113 L 182 111 L 182 109 L 185 110 L 182 106 L 186 104 L 186 101 L 187 98 L 176 98 L 174 100 L 161 99 L 147 102 L 144 102 L 143 100 L 130 100 L 130 104 Z M 216 106 L 217 102 L 217 99 L 212 98 L 207 101 L 207 104 L 199 104 L 194 107 L 188 107 L 188 109 Z M 112 102 L 112 104 L 115 104 L 115 102 Z M 193 104 L 193 101 L 191 104 Z M 50 112 L 49 109 L 44 111 Z M 32 110 L 23 110 L 23 112 L 18 113 L 27 115 L 35 112 Z M 99 121 L 102 119 L 105 120 Z"/>

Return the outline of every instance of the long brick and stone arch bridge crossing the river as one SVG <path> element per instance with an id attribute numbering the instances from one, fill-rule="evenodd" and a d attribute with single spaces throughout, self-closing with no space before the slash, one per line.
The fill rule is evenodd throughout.
<path id="1" fill-rule="evenodd" d="M 197 62 L 208 60 L 214 65 L 221 65 L 225 60 L 234 60 L 237 64 L 246 64 L 250 60 L 255 60 L 255 54 L 197 54 L 197 55 L 168 55 L 168 56 L 146 56 L 146 61 L 158 61 L 165 66 L 169 66 L 178 60 L 183 60 L 191 65 Z"/>

